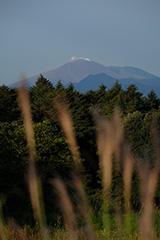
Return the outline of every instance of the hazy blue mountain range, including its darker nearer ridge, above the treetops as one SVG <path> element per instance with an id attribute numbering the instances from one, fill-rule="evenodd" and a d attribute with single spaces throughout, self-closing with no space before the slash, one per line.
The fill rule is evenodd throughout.
<path id="1" fill-rule="evenodd" d="M 64 86 L 72 82 L 74 87 L 86 92 L 90 89 L 96 90 L 103 83 L 107 87 L 112 87 L 116 80 L 127 88 L 130 84 L 135 84 L 138 90 L 147 95 L 153 89 L 160 96 L 160 78 L 148 73 L 140 68 L 132 66 L 104 66 L 87 58 L 75 59 L 63 64 L 53 70 L 42 73 L 54 86 L 61 80 Z M 40 74 L 27 79 L 28 87 L 33 86 Z M 9 85 L 9 87 L 19 87 L 20 83 Z"/>

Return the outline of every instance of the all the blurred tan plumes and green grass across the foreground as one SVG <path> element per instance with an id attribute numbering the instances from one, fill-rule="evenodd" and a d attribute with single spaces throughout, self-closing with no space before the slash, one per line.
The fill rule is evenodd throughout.
<path id="1" fill-rule="evenodd" d="M 68 146 L 70 148 L 75 170 L 71 176 L 71 187 L 76 192 L 76 202 L 70 198 L 67 183 L 59 176 L 50 180 L 57 193 L 63 214 L 64 227 L 58 223 L 47 226 L 43 205 L 43 189 L 38 176 L 35 159 L 36 145 L 27 89 L 19 89 L 19 102 L 23 115 L 26 138 L 29 147 L 29 167 L 27 183 L 35 219 L 35 227 L 20 227 L 14 219 L 8 223 L 3 220 L 0 205 L 0 237 L 1 239 L 160 239 L 160 215 L 154 207 L 154 196 L 160 170 L 160 152 L 158 133 L 153 127 L 155 146 L 155 163 L 150 168 L 141 159 L 133 159 L 129 145 L 124 141 L 121 118 L 115 110 L 111 120 L 104 119 L 95 110 L 93 118 L 97 129 L 97 149 L 99 155 L 100 175 L 102 179 L 101 208 L 94 212 L 85 192 L 86 176 L 74 133 L 73 123 L 68 106 L 57 97 L 54 104 L 57 116 Z M 114 161 L 113 161 L 114 160 Z M 113 164 L 121 173 L 123 181 L 123 204 L 112 196 Z M 137 169 L 141 184 L 141 211 L 133 213 L 131 209 L 131 185 L 134 169 Z M 118 186 L 116 186 L 118 188 Z M 123 207 L 120 207 L 123 205 Z M 111 211 L 112 208 L 112 211 Z M 113 211 L 114 209 L 114 211 Z M 58 216 L 57 216 L 58 218 Z"/>

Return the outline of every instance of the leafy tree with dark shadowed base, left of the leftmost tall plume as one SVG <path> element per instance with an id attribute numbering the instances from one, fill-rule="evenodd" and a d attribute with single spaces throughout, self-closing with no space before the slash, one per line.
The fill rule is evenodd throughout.
<path id="1" fill-rule="evenodd" d="M 0 124 L 0 196 L 4 215 L 26 222 L 29 217 L 29 196 L 25 183 L 28 149 L 20 122 Z M 30 207 L 31 209 L 31 207 Z M 24 213 L 24 214 L 23 214 Z M 30 214 L 32 216 L 32 214 Z"/>

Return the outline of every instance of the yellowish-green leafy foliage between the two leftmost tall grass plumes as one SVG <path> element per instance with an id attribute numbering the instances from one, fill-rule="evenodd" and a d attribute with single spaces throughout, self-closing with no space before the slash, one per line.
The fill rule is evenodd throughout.
<path id="1" fill-rule="evenodd" d="M 73 169 L 73 160 L 63 132 L 49 120 L 35 124 L 37 167 L 40 173 L 67 176 Z"/>

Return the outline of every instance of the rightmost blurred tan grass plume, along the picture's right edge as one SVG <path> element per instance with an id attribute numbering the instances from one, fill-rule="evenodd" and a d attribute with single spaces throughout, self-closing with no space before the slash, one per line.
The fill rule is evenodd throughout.
<path id="1" fill-rule="evenodd" d="M 142 184 L 141 184 L 142 201 L 143 201 L 142 204 L 144 206 L 140 227 L 141 227 L 142 239 L 144 240 L 154 239 L 153 205 L 154 205 L 154 196 L 155 196 L 156 186 L 157 186 L 158 177 L 159 177 L 159 170 L 160 170 L 160 157 L 159 157 L 160 150 L 159 150 L 159 136 L 158 136 L 157 124 L 153 125 L 152 134 L 153 134 L 153 141 L 154 141 L 155 155 L 156 155 L 155 166 L 153 169 L 149 169 L 149 166 L 148 166 L 145 172 L 143 171 L 143 169 L 140 169 L 141 179 L 142 179 Z M 145 186 L 145 189 L 143 190 L 144 186 Z"/>

